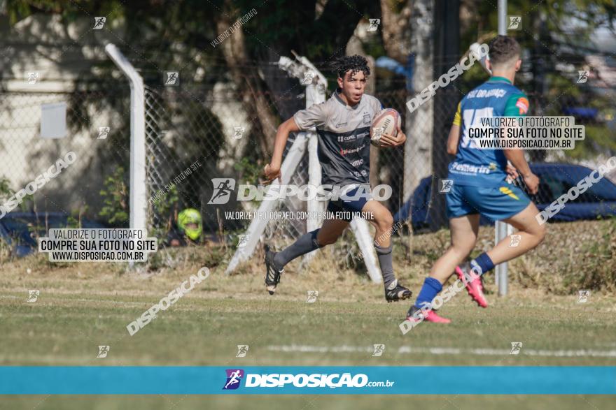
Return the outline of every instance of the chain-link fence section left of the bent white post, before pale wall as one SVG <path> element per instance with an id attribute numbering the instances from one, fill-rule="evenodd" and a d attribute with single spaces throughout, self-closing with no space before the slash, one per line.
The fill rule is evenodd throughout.
<path id="1" fill-rule="evenodd" d="M 123 85 L 88 85 L 87 91 L 39 91 L 45 86 L 38 83 L 31 91 L 0 94 L 0 179 L 6 188 L 1 193 L 3 200 L 43 175 L 44 184 L 31 184 L 27 189 L 31 193 L 31 188 L 38 186 L 36 195 L 22 198 L 16 210 L 83 214 L 98 219 L 104 207 L 100 191 L 105 178 L 127 164 L 129 91 Z M 52 114 L 43 119 L 46 110 L 52 110 Z M 63 117 L 64 130 L 62 126 L 51 133 L 41 129 L 50 122 L 62 124 Z M 66 162 L 69 152 L 74 153 L 74 161 L 54 177 L 57 168 L 62 168 L 57 161 Z M 55 168 L 50 172 L 51 166 Z M 124 211 L 128 212 L 127 206 Z M 127 223 L 118 221 L 120 225 Z"/>

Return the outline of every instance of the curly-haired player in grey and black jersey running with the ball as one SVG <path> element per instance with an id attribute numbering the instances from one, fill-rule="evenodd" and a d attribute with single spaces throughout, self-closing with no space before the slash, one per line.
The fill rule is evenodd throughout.
<path id="1" fill-rule="evenodd" d="M 337 73 L 337 90 L 324 103 L 300 110 L 279 127 L 274 142 L 272 161 L 265 166 L 265 178 L 272 182 L 281 178 L 282 154 L 289 133 L 316 128 L 318 160 L 321 163 L 321 183 L 339 186 L 339 198 L 330 200 L 328 212 L 343 214 L 344 219 L 326 219 L 321 228 L 302 235 L 295 243 L 280 252 L 265 248 L 265 286 L 270 295 L 276 291 L 284 266 L 293 259 L 328 244 L 335 243 L 351 217 L 346 214 L 363 212 L 372 218 L 376 228 L 374 248 L 377 250 L 381 274 L 388 302 L 410 298 L 411 291 L 398 284 L 393 274 L 391 256 L 391 212 L 376 200 L 366 198 L 370 193 L 370 125 L 382 108 L 374 96 L 364 94 L 370 68 L 359 55 L 341 57 L 333 68 Z M 395 136 L 383 134 L 381 147 L 402 145 L 406 136 L 398 126 Z"/>

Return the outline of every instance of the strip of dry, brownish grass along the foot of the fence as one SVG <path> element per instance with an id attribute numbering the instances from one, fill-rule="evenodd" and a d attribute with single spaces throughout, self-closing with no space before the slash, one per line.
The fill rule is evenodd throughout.
<path id="1" fill-rule="evenodd" d="M 493 228 L 482 227 L 471 256 L 493 246 Z M 419 289 L 436 258 L 449 245 L 449 231 L 393 237 L 394 268 L 402 283 Z M 283 244 L 276 244 L 283 247 Z M 227 276 L 224 270 L 233 249 L 190 247 L 162 249 L 151 261 L 130 270 L 126 263 L 50 263 L 36 254 L 3 264 L 0 286 L 6 290 L 45 287 L 73 292 L 160 295 L 207 266 L 211 278 L 204 285 L 212 297 L 229 294 L 252 298 L 265 292 L 262 249 Z M 285 270 L 277 298 L 292 298 L 318 290 L 334 300 L 377 300 L 382 289 L 374 285 L 358 258 L 351 233 L 318 251 L 310 263 L 299 258 Z M 616 221 L 580 221 L 550 224 L 539 247 L 510 262 L 510 292 L 573 295 L 580 289 L 605 294 L 616 290 Z M 118 280 L 121 279 L 121 280 Z M 487 291 L 496 291 L 493 274 L 486 275 Z"/>

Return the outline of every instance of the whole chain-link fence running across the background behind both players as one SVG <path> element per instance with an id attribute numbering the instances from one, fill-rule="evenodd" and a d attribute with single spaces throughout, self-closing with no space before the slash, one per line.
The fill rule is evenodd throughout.
<path id="1" fill-rule="evenodd" d="M 282 71 L 277 75 L 288 81 Z M 146 87 L 146 170 L 151 228 L 162 235 L 176 219 L 177 212 L 194 207 L 202 214 L 206 235 L 220 240 L 229 233 L 242 233 L 250 220 L 230 218 L 228 212 L 255 210 L 258 203 L 237 202 L 231 198 L 225 204 L 213 205 L 210 202 L 217 186 L 212 180 L 232 178 L 238 185 L 258 184 L 262 166 L 271 156 L 271 152 L 263 148 L 262 141 L 273 142 L 275 126 L 285 116 L 304 108 L 303 87 L 297 81 L 288 89 L 281 87 L 267 95 L 254 94 L 255 99 L 267 98 L 269 106 L 266 108 L 277 118 L 278 123 L 271 129 L 263 129 L 255 112 L 248 108 L 252 101 L 247 101 L 247 94 L 228 78 L 200 83 L 183 81 L 179 87 L 163 85 L 160 77 L 157 80 L 158 83 L 149 80 Z M 442 169 L 451 161 L 442 145 L 433 144 L 435 141 L 442 144 L 447 138 L 455 106 L 463 97 L 463 91 L 470 87 L 449 87 L 441 92 L 451 103 L 443 105 L 432 101 L 434 105 L 429 110 L 417 110 L 409 115 L 406 86 L 404 78 L 388 82 L 377 80 L 374 92 L 385 107 L 400 112 L 403 129 L 414 141 L 406 151 L 402 147 L 373 148 L 370 180 L 373 186 L 388 184 L 392 187 L 393 196 L 385 205 L 393 214 L 403 210 L 409 199 L 412 199 L 412 209 L 427 210 L 432 206 L 426 178 L 429 180 L 435 168 Z M 524 84 L 520 87 L 525 88 Z M 545 174 L 545 184 L 535 198 L 538 203 L 556 199 L 579 176 L 582 168 L 575 170 L 563 164 L 581 164 L 594 169 L 616 152 L 611 138 L 615 129 L 614 91 L 614 87 L 605 82 L 601 87 L 577 85 L 572 77 L 568 84 L 561 86 L 561 91 L 528 93 L 530 115 L 572 115 L 587 130 L 586 140 L 578 142 L 573 152 L 529 152 L 533 163 L 554 164 L 545 171 L 549 174 Z M 330 87 L 328 96 L 331 92 Z M 41 105 L 50 103 L 66 103 L 64 138 L 43 139 L 39 135 Z M 109 223 L 109 213 L 102 215 L 107 197 L 100 196 L 100 191 L 106 188 L 105 180 L 109 177 L 122 179 L 123 187 L 116 186 L 116 189 L 124 189 L 121 195 L 127 198 L 130 91 L 125 82 L 83 83 L 73 91 L 62 93 L 22 87 L 20 91 L 4 92 L 0 107 L 0 177 L 8 181 L 11 190 L 22 189 L 66 152 L 73 150 L 78 154 L 78 161 L 64 170 L 62 177 L 51 180 L 38 191 L 43 195 L 37 195 L 33 203 L 26 202 L 22 207 L 66 214 L 78 212 Z M 406 124 L 409 126 L 405 127 Z M 100 138 L 100 129 L 106 127 L 109 131 Z M 427 133 L 418 135 L 416 129 L 427 130 Z M 294 138 L 290 137 L 287 148 Z M 114 174 L 118 168 L 123 168 L 123 172 Z M 307 184 L 307 168 L 307 158 L 304 158 L 290 183 Z M 558 175 L 566 175 L 567 179 L 559 180 Z M 616 200 L 610 192 L 610 187 L 601 192 L 590 191 L 577 201 L 591 204 Z M 112 213 L 124 211 L 127 214 L 127 201 L 124 202 L 122 205 L 120 198 L 112 204 L 111 207 L 116 208 Z M 278 210 L 306 210 L 306 203 L 302 201 L 286 200 L 277 206 Z M 591 215 L 584 210 L 576 212 L 577 217 Z M 413 212 L 400 214 L 414 217 Z M 425 218 L 423 224 L 413 224 L 414 228 L 430 226 L 428 212 L 421 215 Z M 571 216 L 575 217 L 576 214 Z M 127 226 L 127 217 L 116 218 L 113 224 Z M 287 242 L 305 230 L 305 221 L 272 221 L 265 235 L 274 241 Z"/>

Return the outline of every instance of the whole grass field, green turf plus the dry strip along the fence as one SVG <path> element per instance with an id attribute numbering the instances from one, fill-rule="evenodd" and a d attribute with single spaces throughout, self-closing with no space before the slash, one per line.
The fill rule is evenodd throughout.
<path id="1" fill-rule="evenodd" d="M 423 236 L 423 235 L 422 235 Z M 425 238 L 424 238 L 425 239 Z M 433 240 L 435 240 L 433 238 Z M 538 249 L 538 251 L 541 251 Z M 49 265 L 33 256 L 3 265 L 0 277 L 2 365 L 616 365 L 616 304 L 597 291 L 554 295 L 514 281 L 510 295 L 489 294 L 480 309 L 461 293 L 441 312 L 451 325 L 422 323 L 402 335 L 408 303 L 387 304 L 381 285 L 351 269 L 332 269 L 331 256 L 309 270 L 293 265 L 269 296 L 258 263 L 227 277 L 223 264 L 145 328 L 126 325 L 202 266 L 194 251 L 175 268 L 155 274 L 124 272 L 123 265 Z M 204 256 L 204 258 L 206 258 Z M 396 266 L 413 291 L 425 272 Z M 516 274 L 512 268 L 512 274 Z M 493 289 L 493 285 L 488 284 Z M 27 302 L 28 290 L 40 291 Z M 318 299 L 307 303 L 307 291 Z M 510 355 L 511 342 L 522 342 Z M 237 345 L 247 344 L 245 358 Z M 372 344 L 385 344 L 372 357 Z M 96 358 L 99 345 L 109 356 Z M 489 381 L 482 381 L 489 383 Z M 271 400 L 275 400 L 272 404 Z M 108 396 L 2 397 L 3 409 L 608 409 L 615 397 L 421 396 L 259 397 Z"/>

